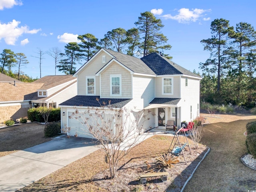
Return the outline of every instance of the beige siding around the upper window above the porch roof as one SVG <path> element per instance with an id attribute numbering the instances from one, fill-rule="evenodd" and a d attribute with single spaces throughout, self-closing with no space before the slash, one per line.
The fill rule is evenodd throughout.
<path id="1" fill-rule="evenodd" d="M 171 78 L 172 76 L 170 76 Z M 172 95 L 163 95 L 162 94 L 162 78 L 168 77 L 156 77 L 156 98 L 180 98 L 180 77 L 173 77 L 173 94 Z"/>

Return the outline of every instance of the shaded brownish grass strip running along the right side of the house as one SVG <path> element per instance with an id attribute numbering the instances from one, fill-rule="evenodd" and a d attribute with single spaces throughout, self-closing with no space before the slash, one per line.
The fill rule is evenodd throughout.
<path id="1" fill-rule="evenodd" d="M 205 126 L 201 141 L 211 151 L 188 182 L 184 192 L 255 190 L 255 170 L 240 162 L 240 157 L 246 153 L 245 125 L 250 121 L 253 120 L 217 122 Z"/>

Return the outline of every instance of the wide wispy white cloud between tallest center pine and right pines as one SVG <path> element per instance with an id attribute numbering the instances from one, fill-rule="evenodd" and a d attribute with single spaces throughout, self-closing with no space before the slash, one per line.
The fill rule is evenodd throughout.
<path id="1" fill-rule="evenodd" d="M 210 9 L 192 9 L 189 10 L 187 8 L 181 8 L 178 10 L 179 14 L 172 16 L 171 14 L 166 14 L 163 17 L 166 19 L 173 19 L 177 20 L 179 23 L 189 23 L 189 22 L 196 22 L 199 20 L 203 15 L 204 12 L 209 12 Z"/>

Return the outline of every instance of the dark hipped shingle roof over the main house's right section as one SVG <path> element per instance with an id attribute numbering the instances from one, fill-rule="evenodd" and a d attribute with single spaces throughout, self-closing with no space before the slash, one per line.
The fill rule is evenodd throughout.
<path id="1" fill-rule="evenodd" d="M 156 75 L 184 74 L 201 78 L 193 72 L 190 72 L 189 70 L 183 68 L 182 66 L 179 66 L 178 64 L 157 53 L 151 53 L 147 56 L 144 56 L 143 58 L 141 58 L 141 60 L 146 63 L 147 66 L 152 69 Z"/>

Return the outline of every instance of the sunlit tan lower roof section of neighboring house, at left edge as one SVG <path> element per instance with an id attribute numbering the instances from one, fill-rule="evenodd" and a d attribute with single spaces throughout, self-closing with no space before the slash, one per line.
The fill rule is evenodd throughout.
<path id="1" fill-rule="evenodd" d="M 0 82 L 0 102 L 30 100 L 42 83 Z"/>

